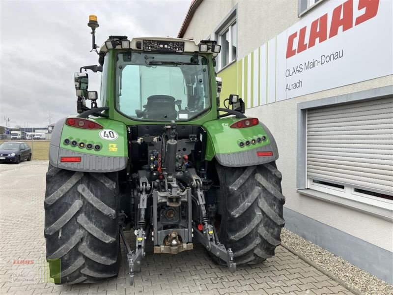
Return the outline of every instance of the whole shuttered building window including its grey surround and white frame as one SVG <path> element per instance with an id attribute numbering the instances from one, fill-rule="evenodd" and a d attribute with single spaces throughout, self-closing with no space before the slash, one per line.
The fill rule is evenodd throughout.
<path id="1" fill-rule="evenodd" d="M 298 192 L 391 220 L 392 110 L 387 88 L 298 104 Z"/>

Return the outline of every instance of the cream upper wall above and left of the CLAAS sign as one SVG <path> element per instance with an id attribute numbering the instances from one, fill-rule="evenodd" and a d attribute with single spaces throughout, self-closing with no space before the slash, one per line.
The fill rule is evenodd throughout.
<path id="1" fill-rule="evenodd" d="M 237 5 L 237 19 L 241 20 L 237 58 L 242 59 L 299 21 L 297 3 L 297 0 L 203 0 L 183 37 L 197 42 L 209 35 L 213 39 L 214 30 Z"/>

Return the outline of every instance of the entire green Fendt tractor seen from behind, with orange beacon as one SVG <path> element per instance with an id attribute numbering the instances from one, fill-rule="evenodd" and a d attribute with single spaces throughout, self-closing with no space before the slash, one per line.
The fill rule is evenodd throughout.
<path id="1" fill-rule="evenodd" d="M 230 271 L 274 256 L 285 201 L 277 145 L 238 95 L 220 107 L 221 46 L 110 36 L 97 51 L 96 16 L 88 26 L 99 65 L 75 74 L 78 115 L 56 123 L 49 150 L 45 237 L 55 283 L 116 276 L 121 241 L 131 284 L 146 247 L 173 255 L 198 241 Z M 87 69 L 102 72 L 100 96 L 87 91 Z"/>

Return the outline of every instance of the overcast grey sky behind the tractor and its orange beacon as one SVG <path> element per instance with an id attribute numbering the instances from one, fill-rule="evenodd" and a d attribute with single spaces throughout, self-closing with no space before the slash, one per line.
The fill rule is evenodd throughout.
<path id="1" fill-rule="evenodd" d="M 88 15 L 98 17 L 96 43 L 109 35 L 173 36 L 191 0 L 0 0 L 0 125 L 41 127 L 76 114 L 74 72 L 98 64 L 91 49 Z M 100 73 L 89 74 L 99 91 Z"/>

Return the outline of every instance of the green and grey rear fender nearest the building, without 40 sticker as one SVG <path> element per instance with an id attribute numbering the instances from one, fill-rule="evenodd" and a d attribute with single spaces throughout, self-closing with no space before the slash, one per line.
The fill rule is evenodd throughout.
<path id="1" fill-rule="evenodd" d="M 216 158 L 223 166 L 242 167 L 264 164 L 279 158 L 276 141 L 263 123 L 246 128 L 231 128 L 230 125 L 238 120 L 222 118 L 202 125 L 207 133 L 205 160 Z M 248 142 L 250 145 L 246 145 Z M 244 143 L 243 147 L 241 143 Z"/>

